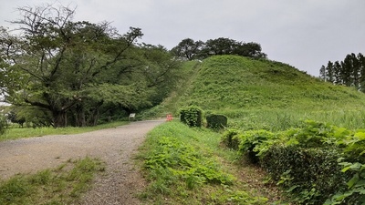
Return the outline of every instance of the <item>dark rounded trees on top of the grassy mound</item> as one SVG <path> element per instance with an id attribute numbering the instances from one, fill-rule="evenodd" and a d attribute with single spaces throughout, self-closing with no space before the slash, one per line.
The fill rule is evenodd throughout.
<path id="1" fill-rule="evenodd" d="M 219 37 L 206 42 L 194 41 L 191 38 L 183 39 L 171 50 L 173 56 L 187 60 L 203 59 L 214 55 L 237 55 L 254 58 L 266 58 L 261 46 L 257 43 L 243 43 L 230 38 Z"/>

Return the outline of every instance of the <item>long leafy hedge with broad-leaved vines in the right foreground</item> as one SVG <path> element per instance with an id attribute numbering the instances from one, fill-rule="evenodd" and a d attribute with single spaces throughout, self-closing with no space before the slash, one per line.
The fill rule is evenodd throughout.
<path id="1" fill-rule="evenodd" d="M 259 162 L 299 203 L 357 204 L 364 194 L 364 132 L 313 120 L 305 123 L 276 133 L 231 131 L 223 138 L 238 138 L 240 153 Z"/>

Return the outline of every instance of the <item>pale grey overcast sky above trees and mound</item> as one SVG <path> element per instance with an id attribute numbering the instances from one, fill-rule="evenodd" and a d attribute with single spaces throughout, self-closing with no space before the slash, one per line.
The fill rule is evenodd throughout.
<path id="1" fill-rule="evenodd" d="M 328 60 L 365 54 L 364 0 L 0 0 L 0 26 L 19 18 L 16 7 L 42 3 L 77 7 L 75 20 L 109 21 L 120 33 L 141 27 L 142 42 L 169 49 L 187 37 L 256 42 L 316 77 Z"/>

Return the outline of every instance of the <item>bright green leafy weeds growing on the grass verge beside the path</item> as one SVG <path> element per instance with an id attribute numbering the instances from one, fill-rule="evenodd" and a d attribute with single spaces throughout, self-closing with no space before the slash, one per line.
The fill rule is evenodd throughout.
<path id="1" fill-rule="evenodd" d="M 176 138 L 160 138 L 151 156 L 145 158 L 146 169 L 168 169 L 174 177 L 186 179 L 189 189 L 201 183 L 230 184 L 232 176 L 217 169 L 212 159 L 203 158 L 192 146 Z"/>

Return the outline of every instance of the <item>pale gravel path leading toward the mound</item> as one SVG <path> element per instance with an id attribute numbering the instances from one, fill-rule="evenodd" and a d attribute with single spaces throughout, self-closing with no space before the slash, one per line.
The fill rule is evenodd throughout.
<path id="1" fill-rule="evenodd" d="M 56 168 L 68 159 L 97 157 L 107 163 L 106 174 L 96 179 L 82 204 L 138 204 L 133 194 L 143 187 L 143 180 L 130 157 L 147 132 L 163 121 L 133 122 L 77 135 L 0 142 L 0 177 L 7 179 L 16 173 Z"/>

